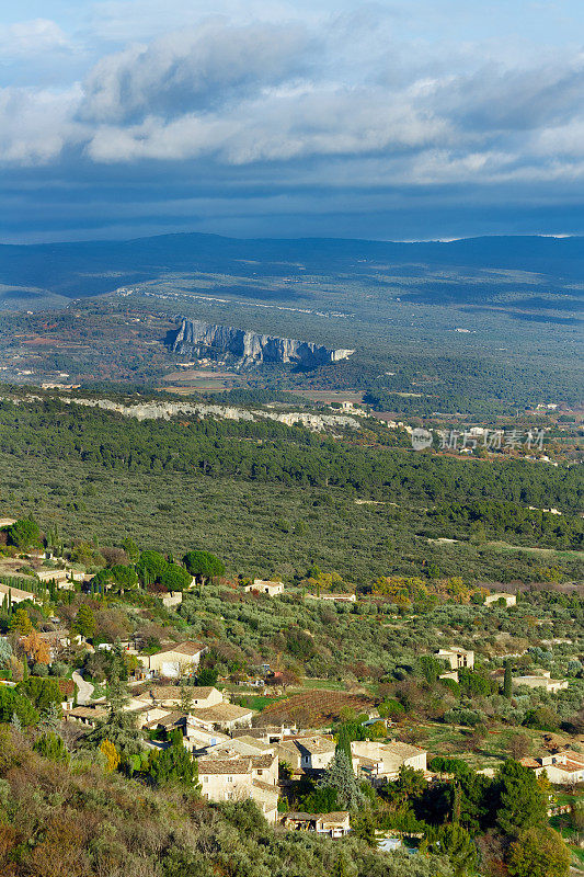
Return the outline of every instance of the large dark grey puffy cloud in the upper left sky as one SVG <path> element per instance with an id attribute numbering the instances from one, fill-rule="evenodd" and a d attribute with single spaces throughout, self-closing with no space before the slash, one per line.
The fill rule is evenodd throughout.
<path id="1" fill-rule="evenodd" d="M 313 43 L 298 23 L 237 27 L 211 20 L 168 33 L 101 59 L 84 83 L 79 115 L 114 124 L 205 112 L 306 72 Z"/>

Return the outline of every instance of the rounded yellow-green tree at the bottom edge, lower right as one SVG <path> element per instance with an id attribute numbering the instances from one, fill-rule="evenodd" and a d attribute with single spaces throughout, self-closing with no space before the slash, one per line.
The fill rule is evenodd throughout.
<path id="1" fill-rule="evenodd" d="M 570 858 L 558 832 L 531 828 L 511 845 L 507 867 L 512 877 L 566 877 Z"/>

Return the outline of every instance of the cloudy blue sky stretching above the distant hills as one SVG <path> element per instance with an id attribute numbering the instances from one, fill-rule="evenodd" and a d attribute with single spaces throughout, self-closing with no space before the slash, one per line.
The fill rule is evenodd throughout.
<path id="1" fill-rule="evenodd" d="M 584 234 L 582 0 L 0 0 L 0 242 Z"/>

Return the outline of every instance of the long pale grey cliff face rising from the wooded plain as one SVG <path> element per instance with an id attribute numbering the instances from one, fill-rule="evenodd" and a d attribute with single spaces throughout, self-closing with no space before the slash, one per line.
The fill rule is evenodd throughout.
<path id="1" fill-rule="evenodd" d="M 327 365 L 346 360 L 354 351 L 329 350 L 310 341 L 272 338 L 230 326 L 211 326 L 201 320 L 182 320 L 169 345 L 173 353 L 198 355 L 202 348 L 230 353 L 244 363 L 299 363 L 306 366 Z"/>

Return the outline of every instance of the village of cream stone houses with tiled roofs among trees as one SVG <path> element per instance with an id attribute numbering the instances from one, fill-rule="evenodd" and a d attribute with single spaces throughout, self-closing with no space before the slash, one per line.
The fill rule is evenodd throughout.
<path id="1" fill-rule="evenodd" d="M 183 604 L 188 605 L 191 600 L 196 604 L 202 594 L 213 591 L 214 582 L 220 578 L 217 573 L 222 573 L 217 558 L 192 553 L 191 559 L 188 555 L 185 557 L 185 566 L 162 560 L 165 572 L 156 572 L 153 566 L 161 562 L 160 556 L 142 551 L 125 567 L 110 563 L 108 568 L 95 571 L 79 561 L 79 551 L 75 560 L 65 557 L 67 553 L 58 539 L 45 537 L 41 543 L 35 526 L 27 521 L 0 520 L 0 532 L 9 534 L 9 544 L 0 558 L 4 629 L 0 638 L 4 667 L 0 683 L 4 690 L 19 692 L 37 679 L 38 696 L 43 686 L 56 682 L 58 720 L 54 727 L 70 748 L 81 745 L 85 736 L 117 722 L 139 737 L 140 764 L 152 763 L 163 752 L 175 753 L 174 748 L 180 745 L 196 765 L 191 768 L 194 770 L 191 782 L 198 784 L 203 800 L 209 804 L 252 800 L 274 827 L 333 839 L 348 835 L 359 824 L 355 821 L 351 795 L 335 793 L 327 799 L 321 793 L 329 788 L 328 783 L 335 782 L 333 775 L 340 770 L 346 773 L 343 782 L 355 784 L 355 794 L 362 795 L 364 788 L 369 788 L 367 794 L 375 800 L 391 796 L 391 789 L 399 788 L 408 777 L 420 777 L 428 789 L 443 787 L 445 782 L 456 784 L 456 772 L 461 765 L 463 770 L 471 765 L 476 776 L 495 782 L 504 755 L 499 761 L 485 759 L 481 765 L 477 754 L 468 763 L 466 756 L 462 761 L 460 756 L 453 758 L 451 745 L 440 747 L 439 738 L 424 745 L 420 726 L 414 732 L 409 729 L 412 719 L 404 722 L 403 701 L 375 696 L 367 686 L 341 685 L 333 693 L 327 691 L 322 681 L 320 695 L 319 690 L 312 690 L 313 694 L 322 703 L 336 696 L 335 710 L 328 716 L 301 710 L 286 714 L 287 704 L 294 705 L 310 691 L 310 680 L 307 677 L 302 683 L 298 677 L 298 662 L 296 672 L 279 660 L 264 661 L 247 672 L 236 673 L 221 673 L 219 664 L 211 667 L 209 658 L 217 646 L 208 636 L 202 639 L 178 636 L 176 613 L 183 611 Z M 25 547 L 10 545 L 18 538 Z M 128 548 L 126 545 L 126 553 Z M 119 559 L 119 554 L 112 554 L 112 560 Z M 172 576 L 169 567 L 175 568 Z M 145 583 L 138 581 L 136 570 Z M 157 580 L 180 582 L 180 590 L 157 588 Z M 347 612 L 357 612 L 364 601 L 354 591 L 343 590 L 340 577 L 319 578 L 313 571 L 307 582 L 311 584 L 300 592 L 280 580 L 243 579 L 231 586 L 241 594 L 240 599 L 265 606 L 276 615 L 285 606 L 282 601 L 294 599 L 307 606 L 321 604 L 319 612 L 330 613 L 325 607 L 332 606 L 343 618 Z M 516 593 L 483 589 L 481 596 L 483 611 L 499 613 L 499 617 L 517 610 Z M 106 637 L 96 636 L 95 617 L 100 617 L 100 612 L 102 617 L 104 612 L 112 612 L 100 607 L 119 606 L 126 600 L 135 605 L 136 601 L 149 601 L 156 613 L 163 613 L 165 639 L 153 641 L 139 628 L 130 637 L 115 636 L 115 630 Z M 389 617 L 393 624 L 401 617 L 401 624 L 405 616 L 394 610 Z M 552 628 L 551 633 L 558 630 Z M 509 639 L 511 634 L 505 636 L 507 639 L 503 638 L 501 645 L 509 648 L 515 641 Z M 468 638 L 463 639 L 468 642 Z M 547 648 L 556 643 L 563 651 L 574 648 L 574 640 L 566 637 L 540 642 L 548 642 Z M 577 647 L 573 659 L 576 651 Z M 511 703 L 525 699 L 524 692 L 549 699 L 569 691 L 570 677 L 560 674 L 556 677 L 551 670 L 534 667 L 527 648 L 513 652 L 499 648 L 499 652 L 486 660 L 481 643 L 468 648 L 450 642 L 434 649 L 422 646 L 417 660 L 433 684 L 457 691 L 469 682 L 474 685 L 480 682 L 490 692 L 500 691 Z M 116 661 L 118 671 L 123 668 L 117 677 L 112 671 Z M 522 667 L 529 668 L 529 672 Z M 125 681 L 121 682 L 122 679 Z M 118 691 L 116 697 L 113 692 L 121 685 L 123 694 Z M 343 688 L 347 694 L 342 694 Z M 399 688 L 396 693 L 401 696 Z M 271 710 L 276 707 L 280 711 L 273 714 Z M 8 708 L 7 704 L 5 717 Z M 415 710 L 410 715 L 413 717 Z M 465 721 L 461 710 L 456 719 L 450 719 L 453 728 L 457 727 L 457 720 Z M 414 725 L 417 721 L 414 719 Z M 572 819 L 583 798 L 584 728 L 576 731 L 572 736 L 540 733 L 537 742 L 528 742 L 524 734 L 525 751 L 522 745 L 513 749 L 517 763 L 543 784 L 548 817 L 564 820 L 563 824 Z M 114 728 L 111 736 L 114 737 Z M 515 737 L 518 743 L 520 734 Z M 106 752 L 108 745 L 119 762 L 123 750 L 117 751 L 108 737 L 103 737 L 101 751 Z M 477 751 L 480 752 L 480 747 Z M 135 770 L 134 776 L 146 782 L 148 772 Z M 329 806 L 321 809 L 317 806 L 327 802 Z M 376 844 L 387 851 L 410 848 L 422 836 L 412 820 L 398 819 L 392 823 L 386 819 L 375 830 Z M 576 833 L 572 841 L 577 843 L 579 838 Z"/>

